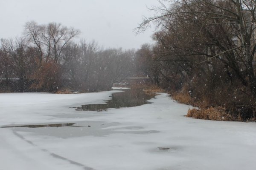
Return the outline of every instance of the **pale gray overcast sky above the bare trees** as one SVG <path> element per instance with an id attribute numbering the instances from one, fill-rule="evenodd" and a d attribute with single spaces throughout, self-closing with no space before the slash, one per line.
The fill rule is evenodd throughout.
<path id="1" fill-rule="evenodd" d="M 157 4 L 157 0 L 0 0 L 0 38 L 22 35 L 24 24 L 34 20 L 73 26 L 81 31 L 79 37 L 94 39 L 105 48 L 138 49 L 152 42 L 154 28 L 140 35 L 133 29 L 143 15 L 152 15 L 146 6 Z"/>

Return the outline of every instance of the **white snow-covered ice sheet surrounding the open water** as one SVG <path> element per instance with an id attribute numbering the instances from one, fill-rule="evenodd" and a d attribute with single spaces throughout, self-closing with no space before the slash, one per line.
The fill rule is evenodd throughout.
<path id="1" fill-rule="evenodd" d="M 0 170 L 256 170 L 256 123 L 186 118 L 159 93 L 151 104 L 76 111 L 117 91 L 0 94 Z"/>

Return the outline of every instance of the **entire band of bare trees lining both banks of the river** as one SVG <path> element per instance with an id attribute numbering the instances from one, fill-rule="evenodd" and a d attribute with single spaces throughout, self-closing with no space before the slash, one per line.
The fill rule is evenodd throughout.
<path id="1" fill-rule="evenodd" d="M 255 0 L 159 0 L 136 29 L 157 28 L 137 51 L 79 43 L 79 31 L 58 23 L 26 23 L 22 38 L 1 39 L 1 89 L 93 92 L 130 75 L 148 76 L 186 103 L 256 117 Z"/>

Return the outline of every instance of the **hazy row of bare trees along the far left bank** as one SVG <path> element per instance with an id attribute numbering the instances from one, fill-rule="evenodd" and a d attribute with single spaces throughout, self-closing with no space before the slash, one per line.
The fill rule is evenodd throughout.
<path id="1" fill-rule="evenodd" d="M 107 90 L 131 75 L 134 50 L 104 49 L 95 41 L 75 42 L 79 30 L 59 23 L 26 23 L 22 37 L 0 40 L 3 92 Z M 15 80 L 13 78 L 16 78 Z"/>

